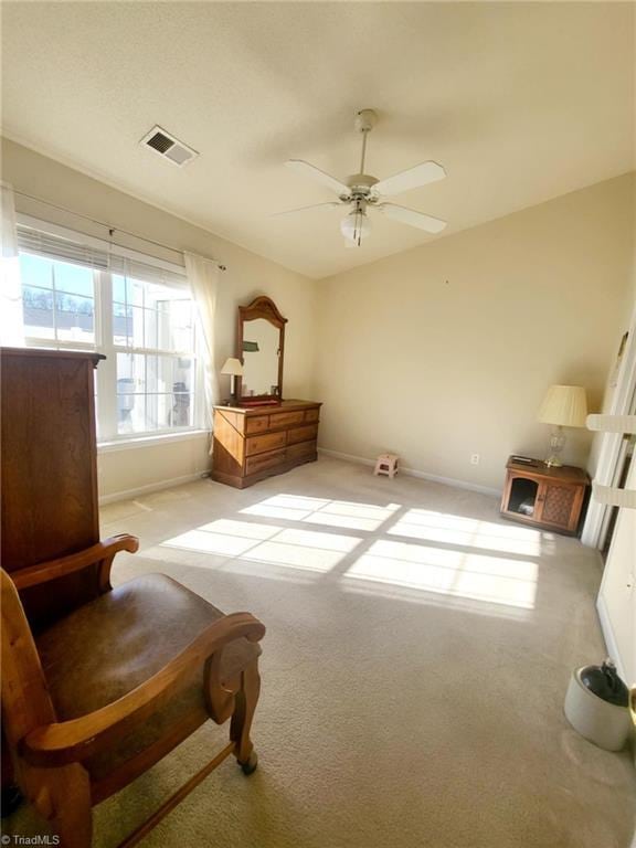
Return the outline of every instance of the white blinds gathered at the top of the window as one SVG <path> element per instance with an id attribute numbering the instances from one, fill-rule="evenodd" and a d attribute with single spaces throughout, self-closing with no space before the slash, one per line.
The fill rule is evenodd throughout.
<path id="1" fill-rule="evenodd" d="M 165 267 L 167 263 L 155 265 L 151 257 L 148 257 L 148 262 L 131 258 L 126 254 L 131 254 L 132 251 L 115 246 L 110 248 L 106 242 L 104 242 L 103 250 L 85 244 L 82 242 L 80 233 L 77 241 L 74 241 L 24 224 L 18 224 L 18 248 L 24 253 L 44 256 L 47 259 L 70 262 L 73 265 L 82 265 L 94 271 L 107 271 L 110 274 L 120 274 L 131 279 L 142 279 L 147 283 L 158 283 L 179 288 L 188 286 L 186 271 L 181 273 L 170 271 Z M 177 266 L 174 267 L 177 268 Z"/>

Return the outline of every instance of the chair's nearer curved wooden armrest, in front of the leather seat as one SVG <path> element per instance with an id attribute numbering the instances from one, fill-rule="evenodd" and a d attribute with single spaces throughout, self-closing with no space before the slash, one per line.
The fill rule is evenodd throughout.
<path id="1" fill-rule="evenodd" d="M 80 719 L 35 728 L 21 740 L 19 751 L 33 765 L 75 763 L 105 751 L 151 716 L 179 689 L 183 677 L 202 666 L 230 642 L 259 642 L 265 627 L 250 613 L 233 613 L 214 622 L 174 659 L 144 683 L 113 703 Z"/>

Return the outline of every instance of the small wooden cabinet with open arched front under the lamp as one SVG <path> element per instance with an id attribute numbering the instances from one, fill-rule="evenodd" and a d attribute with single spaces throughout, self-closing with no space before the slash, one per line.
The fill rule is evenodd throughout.
<path id="1" fill-rule="evenodd" d="M 581 522 L 590 478 L 582 468 L 548 468 L 540 459 L 510 457 L 501 515 L 527 524 L 575 534 Z"/>

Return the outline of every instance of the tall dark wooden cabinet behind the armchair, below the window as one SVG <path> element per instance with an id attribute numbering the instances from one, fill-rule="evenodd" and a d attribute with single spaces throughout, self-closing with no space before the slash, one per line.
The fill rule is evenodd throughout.
<path id="1" fill-rule="evenodd" d="M 1 351 L 2 568 L 82 551 L 99 541 L 94 371 L 98 353 Z M 73 608 L 86 569 L 21 593 L 34 626 Z"/>

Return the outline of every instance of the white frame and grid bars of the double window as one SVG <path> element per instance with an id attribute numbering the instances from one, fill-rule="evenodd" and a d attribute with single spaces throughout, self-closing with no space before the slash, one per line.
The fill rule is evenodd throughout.
<path id="1" fill-rule="evenodd" d="M 98 247 L 109 254 L 118 257 L 118 259 L 132 259 L 136 263 L 152 266 L 159 271 L 168 271 L 172 275 L 178 275 L 182 278 L 183 283 L 174 283 L 171 285 L 169 282 L 160 283 L 167 288 L 174 290 L 183 289 L 184 295 L 192 303 L 190 287 L 187 283 L 186 271 L 179 265 L 158 259 L 153 256 L 132 251 L 130 248 L 115 248 L 113 245 L 104 242 L 94 236 L 86 236 L 81 232 L 61 227 L 56 224 L 49 224 L 47 222 L 33 219 L 29 215 L 18 215 L 18 223 L 24 226 L 39 230 L 42 233 L 51 233 L 53 235 L 68 239 L 75 244 L 86 244 L 87 246 Z M 20 255 L 42 255 L 34 251 L 20 251 Z M 46 257 L 51 258 L 51 257 Z M 54 258 L 52 258 L 55 262 Z M 64 262 L 61 257 L 60 262 Z M 72 261 L 68 261 L 73 264 Z M 87 267 L 87 266 L 84 266 Z M 96 370 L 96 426 L 97 426 L 97 445 L 105 446 L 108 449 L 115 449 L 117 445 L 124 446 L 127 443 L 144 443 L 149 444 L 156 438 L 157 442 L 169 439 L 171 436 L 181 441 L 192 435 L 206 432 L 204 426 L 204 412 L 205 412 L 205 399 L 204 399 L 204 365 L 203 365 L 203 351 L 202 339 L 199 328 L 199 320 L 193 310 L 193 346 L 192 350 L 176 350 L 176 349 L 158 349 L 136 346 L 123 346 L 116 344 L 113 335 L 113 277 L 121 275 L 120 271 L 91 268 L 93 275 L 93 332 L 94 342 L 65 340 L 65 339 L 47 339 L 38 336 L 28 336 L 24 333 L 24 344 L 32 348 L 53 348 L 55 350 L 91 350 L 97 353 L 103 353 L 106 359 L 99 363 L 99 368 Z M 156 283 L 156 280 L 144 280 L 142 276 L 130 276 L 129 279 L 139 279 L 141 283 Z M 29 280 L 21 278 L 21 286 L 30 286 Z M 53 295 L 55 298 L 55 295 Z M 55 315 L 55 310 L 54 310 Z M 55 327 L 55 324 L 54 324 Z M 55 328 L 56 330 L 56 328 Z M 56 331 L 55 331 L 56 336 Z M 192 365 L 192 389 L 190 392 L 192 404 L 192 424 L 160 427 L 153 430 L 145 430 L 136 433 L 119 433 L 118 432 L 118 418 L 117 418 L 117 353 L 127 354 L 140 354 L 144 357 L 166 357 L 166 358 L 187 358 L 191 359 Z M 153 392 L 148 393 L 153 395 Z M 170 394 L 168 392 L 168 394 Z"/>

